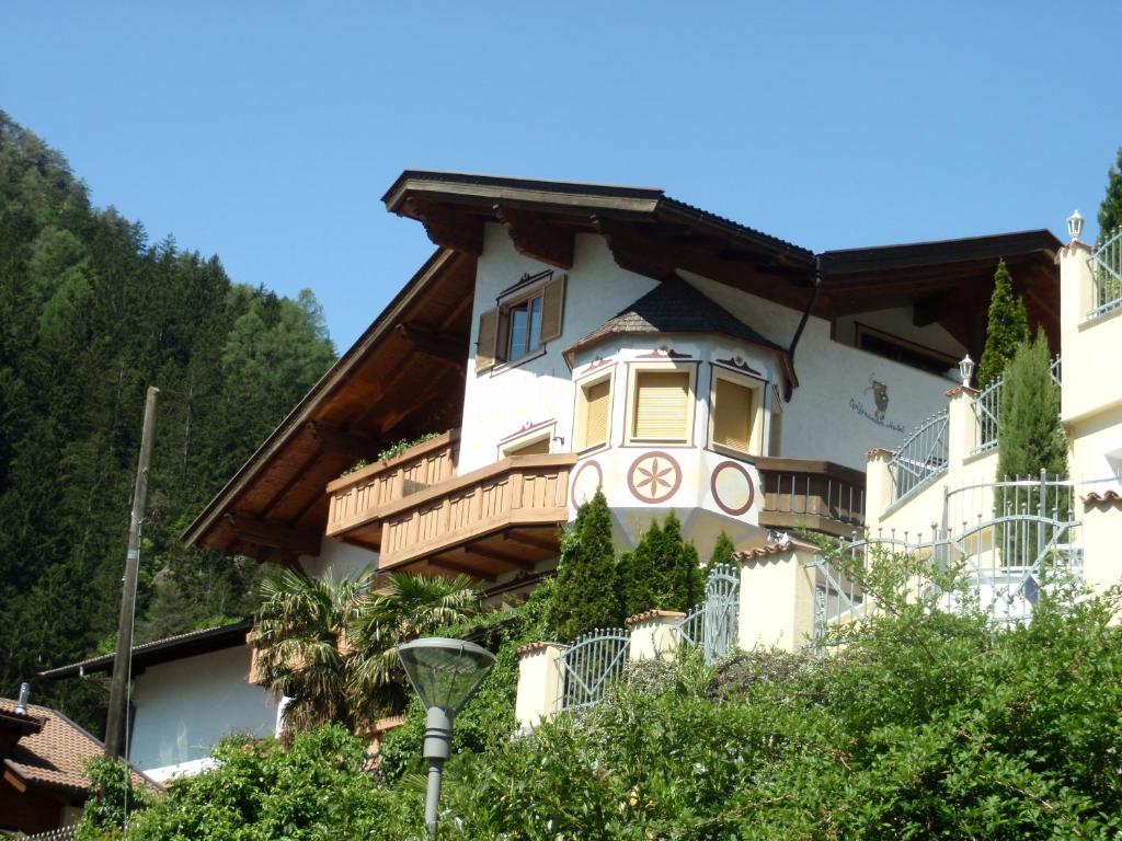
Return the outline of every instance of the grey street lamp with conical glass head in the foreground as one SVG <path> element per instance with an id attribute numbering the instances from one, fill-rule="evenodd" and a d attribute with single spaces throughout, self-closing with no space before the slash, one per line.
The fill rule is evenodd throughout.
<path id="1" fill-rule="evenodd" d="M 490 672 L 495 655 L 462 639 L 425 637 L 397 646 L 397 657 L 426 710 L 423 756 L 429 760 L 429 789 L 424 822 L 429 838 L 435 840 L 440 779 L 451 752 L 456 713 Z"/>

